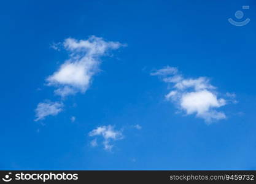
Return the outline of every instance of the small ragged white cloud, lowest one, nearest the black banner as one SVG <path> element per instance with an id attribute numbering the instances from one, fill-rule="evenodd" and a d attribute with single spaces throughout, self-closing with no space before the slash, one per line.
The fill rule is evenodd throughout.
<path id="1" fill-rule="evenodd" d="M 108 126 L 99 126 L 96 129 L 93 129 L 91 132 L 89 132 L 90 137 L 95 137 L 95 136 L 101 136 L 103 137 L 103 145 L 105 150 L 112 150 L 113 145 L 111 142 L 114 140 L 122 139 L 123 135 L 121 131 L 117 131 L 114 129 L 113 126 L 108 125 Z M 91 146 L 95 147 L 98 145 L 96 142 L 96 139 L 91 141 Z"/>

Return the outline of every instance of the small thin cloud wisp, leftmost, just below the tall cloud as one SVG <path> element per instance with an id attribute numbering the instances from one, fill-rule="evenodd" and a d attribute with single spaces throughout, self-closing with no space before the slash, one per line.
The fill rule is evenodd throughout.
<path id="1" fill-rule="evenodd" d="M 63 110 L 63 104 L 61 102 L 41 102 L 36 108 L 36 120 L 44 120 L 45 117 L 52 115 L 55 116 Z"/>

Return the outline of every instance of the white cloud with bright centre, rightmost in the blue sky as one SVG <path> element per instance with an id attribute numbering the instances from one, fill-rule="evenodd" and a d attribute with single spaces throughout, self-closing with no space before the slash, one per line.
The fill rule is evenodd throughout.
<path id="1" fill-rule="evenodd" d="M 226 105 L 227 100 L 218 97 L 217 88 L 211 85 L 208 78 L 185 79 L 178 73 L 177 68 L 169 68 L 175 72 L 165 75 L 163 75 L 163 69 L 155 72 L 164 82 L 173 83 L 173 90 L 166 94 L 166 99 L 174 102 L 177 108 L 187 115 L 195 114 L 196 117 L 203 118 L 207 123 L 226 118 L 225 113 L 218 112 L 217 109 Z M 232 96 L 234 97 L 233 94 Z"/>

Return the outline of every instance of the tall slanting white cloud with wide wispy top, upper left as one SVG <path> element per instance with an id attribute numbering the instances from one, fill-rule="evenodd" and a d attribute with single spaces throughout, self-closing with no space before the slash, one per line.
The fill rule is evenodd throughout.
<path id="1" fill-rule="evenodd" d="M 69 52 L 69 59 L 47 78 L 47 84 L 56 86 L 55 94 L 62 97 L 78 92 L 85 93 L 93 75 L 99 71 L 99 57 L 124 45 L 91 36 L 88 40 L 68 38 L 64 40 L 63 46 Z"/>

